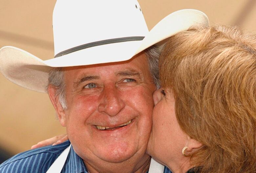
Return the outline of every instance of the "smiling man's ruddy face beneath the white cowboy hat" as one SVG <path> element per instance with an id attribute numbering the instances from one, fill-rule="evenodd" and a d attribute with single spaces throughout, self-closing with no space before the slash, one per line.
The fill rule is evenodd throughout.
<path id="1" fill-rule="evenodd" d="M 155 90 L 147 58 L 66 67 L 64 124 L 75 152 L 85 161 L 121 163 L 144 156 Z"/>

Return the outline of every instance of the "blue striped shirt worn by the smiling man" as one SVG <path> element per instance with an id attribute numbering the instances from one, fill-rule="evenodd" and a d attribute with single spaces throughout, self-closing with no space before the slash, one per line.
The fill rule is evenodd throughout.
<path id="1" fill-rule="evenodd" d="M 57 157 L 70 145 L 69 141 L 55 146 L 46 146 L 17 154 L 0 164 L 0 173 L 45 173 Z M 61 173 L 88 173 L 83 160 L 71 146 Z M 165 167 L 163 173 L 171 173 Z"/>

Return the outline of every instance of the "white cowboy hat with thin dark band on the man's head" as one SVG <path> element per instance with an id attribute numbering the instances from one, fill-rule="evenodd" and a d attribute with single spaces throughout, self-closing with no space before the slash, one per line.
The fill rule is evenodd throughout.
<path id="1" fill-rule="evenodd" d="M 179 10 L 148 31 L 137 0 L 57 0 L 53 10 L 55 57 L 43 61 L 6 46 L 0 49 L 0 71 L 19 86 L 46 92 L 52 67 L 125 61 L 192 25 L 208 23 L 201 11 Z"/>

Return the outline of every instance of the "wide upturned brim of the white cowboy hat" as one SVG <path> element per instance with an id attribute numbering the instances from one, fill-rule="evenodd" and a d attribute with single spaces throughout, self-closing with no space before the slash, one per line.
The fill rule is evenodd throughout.
<path id="1" fill-rule="evenodd" d="M 207 16 L 199 10 L 173 12 L 151 29 L 143 40 L 104 44 L 41 60 L 25 50 L 5 46 L 0 49 L 0 71 L 11 82 L 38 92 L 47 92 L 52 67 L 83 66 L 126 61 L 139 52 L 193 25 L 208 25 Z"/>

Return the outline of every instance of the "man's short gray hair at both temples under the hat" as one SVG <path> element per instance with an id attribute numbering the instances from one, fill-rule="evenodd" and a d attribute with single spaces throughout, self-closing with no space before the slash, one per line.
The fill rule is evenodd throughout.
<path id="1" fill-rule="evenodd" d="M 153 77 L 154 83 L 157 88 L 160 87 L 159 81 L 159 68 L 158 68 L 158 59 L 160 56 L 160 49 L 154 46 L 151 46 L 144 50 L 144 53 L 147 56 L 148 66 L 150 73 Z M 65 92 L 65 82 L 64 82 L 64 71 L 62 67 L 54 67 L 49 72 L 48 85 L 46 90 L 48 91 L 48 86 L 52 85 L 56 88 L 55 99 L 58 98 L 59 103 L 63 109 L 67 109 L 66 102 L 66 92 Z"/>

